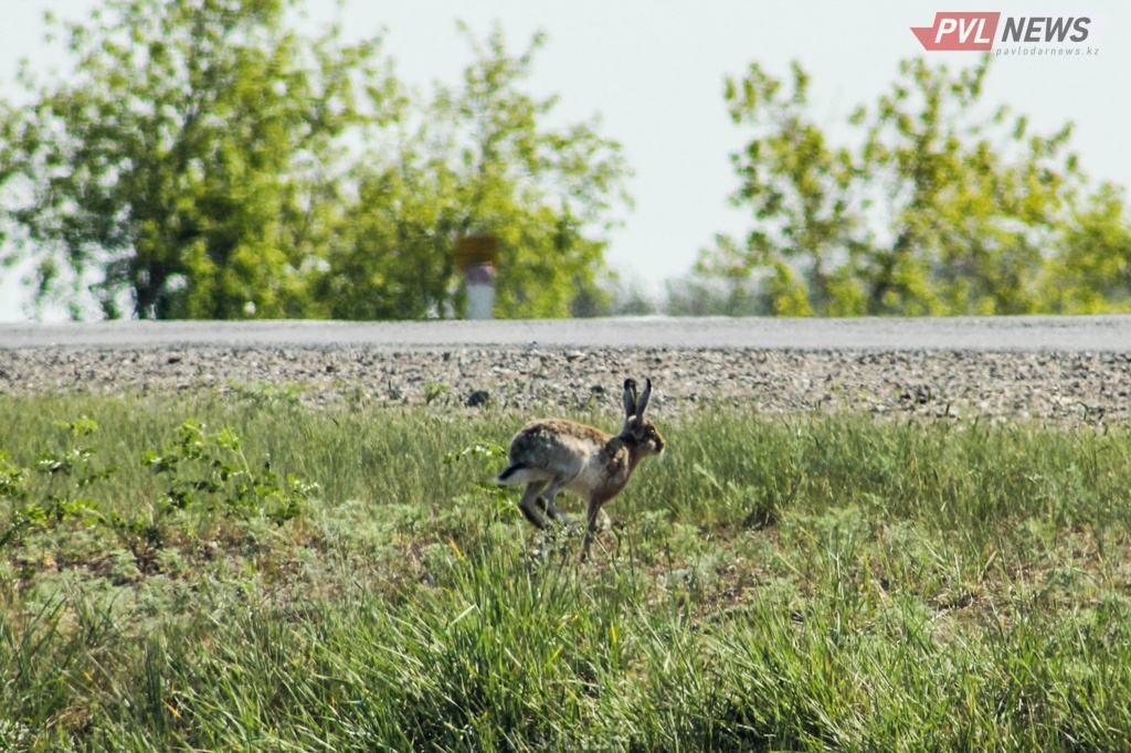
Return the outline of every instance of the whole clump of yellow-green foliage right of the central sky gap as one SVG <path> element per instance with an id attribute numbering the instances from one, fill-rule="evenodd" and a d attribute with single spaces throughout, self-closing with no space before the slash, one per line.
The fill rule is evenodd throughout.
<path id="1" fill-rule="evenodd" d="M 1088 191 L 1071 124 L 1029 132 L 1005 106 L 983 116 L 990 59 L 952 75 L 904 61 L 875 106 L 848 119 L 855 147 L 812 120 L 809 77 L 752 64 L 729 78 L 732 197 L 756 220 L 720 237 L 698 275 L 753 291 L 782 315 L 1011 314 L 1111 310 L 1128 300 L 1131 217 L 1110 184 Z"/>

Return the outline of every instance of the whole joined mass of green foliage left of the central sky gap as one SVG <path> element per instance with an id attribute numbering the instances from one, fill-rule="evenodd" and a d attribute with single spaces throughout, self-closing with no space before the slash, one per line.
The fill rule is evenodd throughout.
<path id="1" fill-rule="evenodd" d="M 554 129 L 520 55 L 469 33 L 459 87 L 407 94 L 379 37 L 287 27 L 285 0 L 106 0 L 74 70 L 0 103 L 2 260 L 35 302 L 105 318 L 459 313 L 454 245 L 500 239 L 500 315 L 599 294 L 620 146 Z M 0 241 L 3 241 L 0 237 Z"/>

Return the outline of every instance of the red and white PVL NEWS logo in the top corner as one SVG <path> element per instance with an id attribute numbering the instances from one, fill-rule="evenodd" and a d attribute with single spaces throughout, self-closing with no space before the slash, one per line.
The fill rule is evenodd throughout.
<path id="1" fill-rule="evenodd" d="M 939 11 L 933 26 L 912 26 L 927 52 L 970 51 L 1001 55 L 1099 54 L 1093 16 L 1005 16 Z"/>

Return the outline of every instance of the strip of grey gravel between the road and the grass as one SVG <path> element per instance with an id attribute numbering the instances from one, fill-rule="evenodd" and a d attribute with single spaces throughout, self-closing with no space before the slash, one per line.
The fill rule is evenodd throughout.
<path id="1" fill-rule="evenodd" d="M 0 349 L 0 395 L 216 391 L 312 406 L 486 403 L 545 414 L 619 405 L 651 378 L 654 409 L 863 410 L 1080 422 L 1131 416 L 1131 353 L 491 347 Z"/>

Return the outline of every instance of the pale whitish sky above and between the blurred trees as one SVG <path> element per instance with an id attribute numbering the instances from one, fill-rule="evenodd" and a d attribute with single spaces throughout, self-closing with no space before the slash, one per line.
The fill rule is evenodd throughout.
<path id="1" fill-rule="evenodd" d="M 79 20 L 96 0 L 0 0 L 0 96 L 15 99 L 19 61 L 66 75 L 60 45 L 43 43 L 43 11 Z M 1076 123 L 1072 148 L 1097 180 L 1131 185 L 1131 3 L 1125 0 L 878 2 L 856 0 L 308 0 L 296 23 L 313 34 L 340 18 L 347 38 L 382 32 L 399 78 L 422 92 L 456 81 L 470 61 L 457 20 L 480 37 L 498 21 L 512 52 L 545 32 L 528 89 L 558 95 L 559 123 L 601 116 L 601 133 L 620 141 L 634 171 L 634 209 L 610 235 L 608 266 L 625 280 L 658 291 L 687 274 L 716 233 L 744 234 L 748 213 L 729 205 L 737 187 L 729 155 L 749 135 L 726 113 L 726 76 L 758 61 L 786 77 L 798 60 L 812 77 L 811 113 L 834 140 L 858 104 L 887 92 L 901 59 L 925 55 L 952 69 L 975 52 L 924 52 L 913 26 L 935 11 L 1000 11 L 1007 16 L 1094 17 L 1094 54 L 1003 57 L 991 66 L 985 101 L 1029 116 L 1037 132 Z M 33 11 L 32 9 L 36 9 Z M 999 34 L 1000 35 L 1000 34 Z M 1090 40 L 1089 40 L 1090 41 Z M 0 270 L 0 321 L 28 319 L 21 270 Z M 57 315 L 57 314 L 55 314 Z M 49 314 L 48 318 L 54 315 Z"/>

